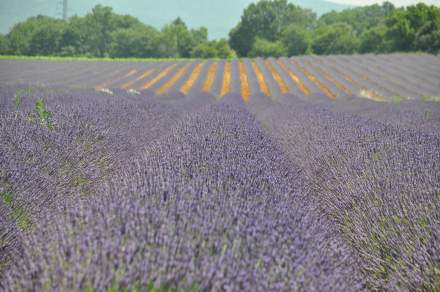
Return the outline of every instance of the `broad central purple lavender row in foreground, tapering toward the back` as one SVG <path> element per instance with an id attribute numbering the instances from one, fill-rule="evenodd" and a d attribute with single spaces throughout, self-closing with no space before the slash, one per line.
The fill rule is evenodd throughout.
<path id="1" fill-rule="evenodd" d="M 363 287 L 301 170 L 235 103 L 191 112 L 100 195 L 23 242 L 5 276 L 11 290 Z"/>

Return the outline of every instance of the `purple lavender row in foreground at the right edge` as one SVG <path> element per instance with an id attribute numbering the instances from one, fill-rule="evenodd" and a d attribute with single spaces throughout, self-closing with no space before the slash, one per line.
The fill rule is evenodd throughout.
<path id="1" fill-rule="evenodd" d="M 267 133 L 302 168 L 306 188 L 356 250 L 368 288 L 435 289 L 438 134 L 402 126 L 398 110 L 381 123 L 337 107 L 293 98 L 282 105 L 256 101 L 251 106 Z M 397 121 L 390 121 L 393 117 Z"/>

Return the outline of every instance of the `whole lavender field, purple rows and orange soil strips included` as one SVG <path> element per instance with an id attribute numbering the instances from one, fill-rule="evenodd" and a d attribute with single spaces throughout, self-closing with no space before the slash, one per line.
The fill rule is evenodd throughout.
<path id="1" fill-rule="evenodd" d="M 438 291 L 440 58 L 0 61 L 1 291 Z"/>

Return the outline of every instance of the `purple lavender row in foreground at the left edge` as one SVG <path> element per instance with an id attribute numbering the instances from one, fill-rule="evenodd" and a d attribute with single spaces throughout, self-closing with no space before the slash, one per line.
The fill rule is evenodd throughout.
<path id="1" fill-rule="evenodd" d="M 182 110 L 143 98 L 3 87 L 0 95 L 0 275 L 23 233 L 57 206 L 96 194 L 125 160 L 164 135 Z M 52 127 L 35 111 L 45 97 Z"/>

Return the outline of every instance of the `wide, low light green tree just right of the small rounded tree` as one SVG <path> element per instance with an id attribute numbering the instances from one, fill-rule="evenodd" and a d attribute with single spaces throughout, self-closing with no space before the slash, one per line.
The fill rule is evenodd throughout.
<path id="1" fill-rule="evenodd" d="M 358 50 L 359 40 L 346 23 L 320 27 L 315 34 L 312 49 L 318 55 L 352 54 Z"/>

